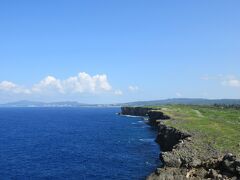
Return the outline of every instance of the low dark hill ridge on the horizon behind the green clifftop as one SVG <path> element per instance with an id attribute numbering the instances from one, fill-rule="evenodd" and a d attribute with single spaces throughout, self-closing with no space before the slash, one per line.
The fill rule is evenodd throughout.
<path id="1" fill-rule="evenodd" d="M 118 104 L 120 106 L 156 106 L 166 104 L 189 104 L 189 105 L 213 105 L 213 104 L 225 104 L 235 105 L 240 104 L 240 99 L 201 99 L 201 98 L 174 98 L 155 101 L 137 101 Z"/>

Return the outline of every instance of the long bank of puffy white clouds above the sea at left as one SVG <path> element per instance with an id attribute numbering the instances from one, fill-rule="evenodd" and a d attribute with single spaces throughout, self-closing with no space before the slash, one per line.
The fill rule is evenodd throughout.
<path id="1" fill-rule="evenodd" d="M 29 88 L 19 86 L 10 81 L 0 82 L 0 91 L 22 94 L 71 94 L 71 93 L 102 93 L 114 91 L 108 82 L 107 75 L 91 76 L 85 72 L 79 73 L 67 79 L 57 79 L 54 76 L 47 76 L 40 82 Z M 120 90 L 115 91 L 116 95 L 122 94 Z"/>

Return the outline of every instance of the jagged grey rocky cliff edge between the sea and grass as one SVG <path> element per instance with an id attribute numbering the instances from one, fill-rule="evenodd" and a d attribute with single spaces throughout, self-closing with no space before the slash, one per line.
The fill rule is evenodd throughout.
<path id="1" fill-rule="evenodd" d="M 236 156 L 222 155 L 208 144 L 197 148 L 196 135 L 166 126 L 164 121 L 171 118 L 160 109 L 122 107 L 121 110 L 123 115 L 148 116 L 149 124 L 158 128 L 156 142 L 161 147 L 159 158 L 163 165 L 147 180 L 240 179 L 240 160 Z"/>

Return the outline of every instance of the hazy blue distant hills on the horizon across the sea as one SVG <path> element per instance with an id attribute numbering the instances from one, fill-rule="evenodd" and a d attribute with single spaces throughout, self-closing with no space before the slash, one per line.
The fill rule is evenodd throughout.
<path id="1" fill-rule="evenodd" d="M 6 104 L 0 104 L 0 107 L 83 107 L 83 106 L 99 106 L 95 104 L 84 104 L 75 101 L 64 102 L 36 102 L 36 101 L 17 101 Z"/>

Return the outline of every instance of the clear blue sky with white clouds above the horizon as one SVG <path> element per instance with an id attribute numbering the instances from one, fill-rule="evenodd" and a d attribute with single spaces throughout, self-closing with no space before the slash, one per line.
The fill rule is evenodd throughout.
<path id="1" fill-rule="evenodd" d="M 0 1 L 0 102 L 240 98 L 240 1 Z"/>

